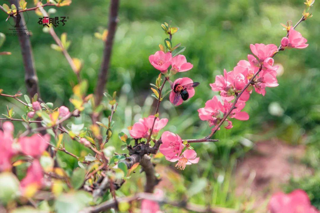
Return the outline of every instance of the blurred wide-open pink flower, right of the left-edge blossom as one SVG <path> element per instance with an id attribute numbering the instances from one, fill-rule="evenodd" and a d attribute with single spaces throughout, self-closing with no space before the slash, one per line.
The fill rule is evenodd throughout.
<path id="1" fill-rule="evenodd" d="M 48 147 L 48 143 L 50 143 L 50 135 L 45 134 L 42 136 L 39 133 L 36 133 L 31 137 L 20 137 L 19 143 L 21 146 L 21 151 L 25 155 L 38 157 L 41 156 Z"/>

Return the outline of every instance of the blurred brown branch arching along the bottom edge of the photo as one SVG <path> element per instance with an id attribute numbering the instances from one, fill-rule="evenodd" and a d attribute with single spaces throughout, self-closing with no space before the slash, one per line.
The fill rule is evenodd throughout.
<path id="1" fill-rule="evenodd" d="M 195 211 L 195 212 L 203 212 L 203 213 L 236 213 L 237 211 L 234 209 L 227 209 L 227 208 L 221 208 L 221 207 L 205 207 L 193 203 L 188 202 L 177 202 L 177 201 L 169 201 L 168 199 L 164 197 L 158 197 L 151 193 L 138 193 L 129 197 L 121 197 L 117 198 L 117 200 L 108 200 L 106 202 L 103 202 L 97 206 L 91 206 L 88 208 L 85 208 L 80 211 L 80 213 L 99 213 L 101 211 L 106 211 L 108 209 L 117 209 L 119 202 L 132 202 L 136 200 L 151 200 L 155 202 L 159 202 L 161 204 L 169 204 L 175 207 L 180 207 L 189 211 Z"/>

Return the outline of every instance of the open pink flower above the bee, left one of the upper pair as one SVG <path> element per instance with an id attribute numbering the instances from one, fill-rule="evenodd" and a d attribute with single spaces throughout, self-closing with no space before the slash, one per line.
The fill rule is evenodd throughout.
<path id="1" fill-rule="evenodd" d="M 149 56 L 151 65 L 161 72 L 168 69 L 171 65 L 171 59 L 171 52 L 164 53 L 163 51 L 157 51 L 154 55 Z"/>

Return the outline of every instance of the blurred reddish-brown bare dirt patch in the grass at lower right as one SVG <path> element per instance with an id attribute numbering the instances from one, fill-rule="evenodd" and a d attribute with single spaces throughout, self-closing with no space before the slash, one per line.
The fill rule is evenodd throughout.
<path id="1" fill-rule="evenodd" d="M 290 177 L 312 173 L 301 163 L 304 153 L 304 146 L 290 146 L 279 140 L 256 143 L 236 167 L 236 194 L 253 197 L 255 209 L 265 205 L 269 196 L 281 190 Z"/>

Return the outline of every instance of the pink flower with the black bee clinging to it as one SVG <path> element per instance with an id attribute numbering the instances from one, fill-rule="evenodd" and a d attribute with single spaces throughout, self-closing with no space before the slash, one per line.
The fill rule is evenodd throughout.
<path id="1" fill-rule="evenodd" d="M 172 88 L 172 91 L 170 93 L 170 102 L 171 103 L 174 103 L 174 98 L 175 98 L 175 95 L 177 93 L 179 93 L 178 89 L 180 89 L 181 91 L 186 89 L 187 92 L 188 92 L 188 98 L 191 98 L 195 95 L 195 89 L 192 87 L 192 86 L 189 86 L 190 84 L 193 83 L 193 80 L 190 79 L 190 78 L 187 78 L 187 77 L 184 77 L 184 78 L 178 78 L 176 79 L 173 84 L 171 85 L 171 88 Z M 186 86 L 186 87 L 185 87 Z M 175 91 L 177 90 L 177 91 Z M 183 99 L 181 98 L 181 95 L 180 95 L 180 99 L 179 101 L 175 104 L 176 106 L 180 105 L 181 103 L 183 102 Z"/>

